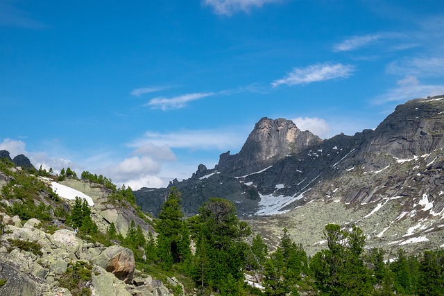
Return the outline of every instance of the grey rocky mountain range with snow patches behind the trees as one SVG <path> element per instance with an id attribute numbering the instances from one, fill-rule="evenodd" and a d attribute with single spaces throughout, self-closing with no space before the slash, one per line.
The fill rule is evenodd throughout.
<path id="1" fill-rule="evenodd" d="M 408 101 L 375 130 L 323 141 L 291 121 L 261 119 L 238 154 L 222 154 L 213 169 L 200 164 L 169 187 L 182 192 L 187 215 L 210 197 L 227 198 L 257 232 L 273 241 L 287 227 L 309 254 L 323 247 L 327 223 L 355 223 L 370 246 L 387 250 L 440 247 L 443 97 Z M 167 191 L 142 188 L 135 196 L 158 213 Z"/>

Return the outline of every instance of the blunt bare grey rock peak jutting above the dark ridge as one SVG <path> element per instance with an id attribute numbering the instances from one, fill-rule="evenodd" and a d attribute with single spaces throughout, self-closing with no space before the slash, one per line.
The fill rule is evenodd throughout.
<path id="1" fill-rule="evenodd" d="M 270 166 L 276 160 L 321 143 L 309 131 L 302 132 L 293 121 L 262 118 L 238 154 L 223 153 L 217 170 L 234 176 L 246 175 Z"/>

